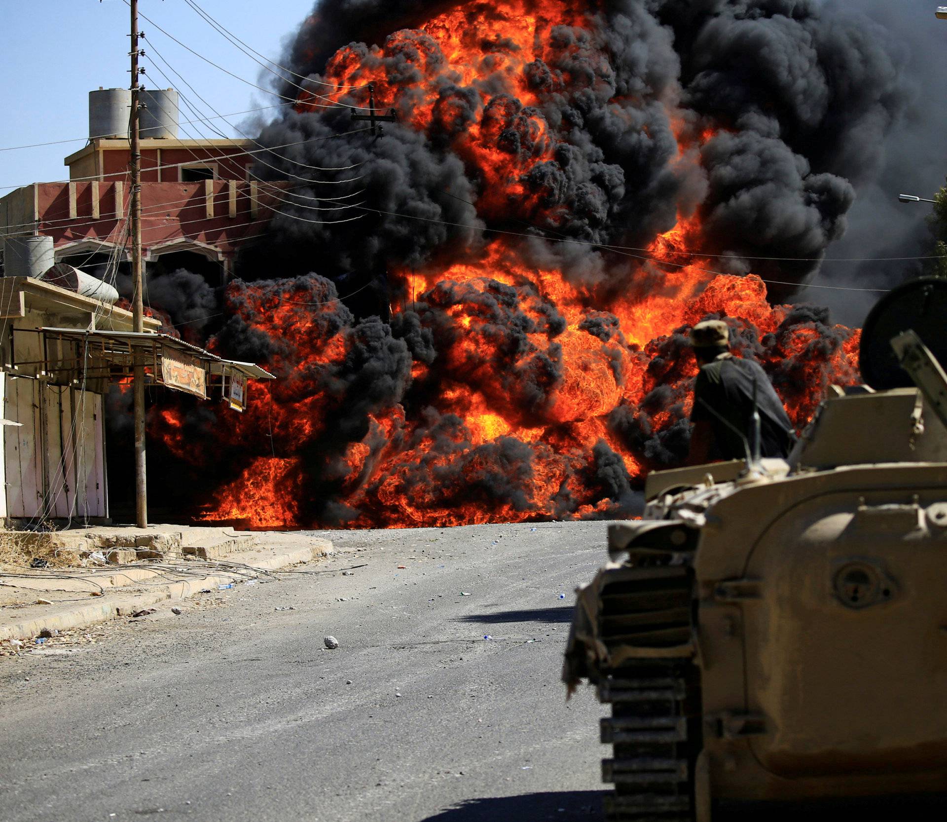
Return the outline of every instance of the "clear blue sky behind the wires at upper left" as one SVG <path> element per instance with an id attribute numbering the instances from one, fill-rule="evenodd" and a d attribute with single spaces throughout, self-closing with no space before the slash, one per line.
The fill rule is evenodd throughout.
<path id="1" fill-rule="evenodd" d="M 313 0 L 195 2 L 242 41 L 277 61 L 285 39 L 313 9 Z M 246 80 L 267 85 L 260 81 L 259 64 L 224 40 L 184 0 L 139 0 L 139 7 L 208 60 Z M 142 21 L 141 28 L 168 63 L 222 115 L 278 102 L 202 62 L 147 22 Z M 0 73 L 7 80 L 0 97 L 5 113 L 0 116 L 0 149 L 79 138 L 62 145 L 0 151 L 2 196 L 10 186 L 66 177 L 63 157 L 79 151 L 88 134 L 88 93 L 99 86 L 129 85 L 129 9 L 123 0 L 2 0 L 0 30 L 4 32 Z M 148 50 L 147 44 L 143 47 Z M 170 85 L 152 72 L 147 57 L 143 64 L 151 75 L 144 80 L 147 87 Z M 161 68 L 167 71 L 165 66 Z M 172 79 L 177 85 L 177 79 Z M 188 93 L 188 97 L 192 95 Z M 191 118 L 186 114 L 183 109 L 182 119 Z M 228 119 L 240 126 L 246 117 Z M 195 127 L 187 128 L 196 135 Z M 237 135 L 225 124 L 222 130 L 229 136 Z"/>

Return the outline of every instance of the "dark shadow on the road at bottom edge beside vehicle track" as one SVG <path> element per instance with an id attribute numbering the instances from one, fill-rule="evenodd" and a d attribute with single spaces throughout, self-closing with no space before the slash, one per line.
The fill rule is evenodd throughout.
<path id="1" fill-rule="evenodd" d="M 484 796 L 465 799 L 456 808 L 428 816 L 423 822 L 599 822 L 604 791 Z"/>

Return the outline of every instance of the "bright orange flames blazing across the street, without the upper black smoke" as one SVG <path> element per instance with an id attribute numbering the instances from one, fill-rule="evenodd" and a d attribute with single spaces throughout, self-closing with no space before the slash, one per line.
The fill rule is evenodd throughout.
<path id="1" fill-rule="evenodd" d="M 246 413 L 207 429 L 205 449 L 188 452 L 174 412 L 153 422 L 183 459 L 241 453 L 206 519 L 407 527 L 627 514 L 644 475 L 687 453 L 696 365 L 686 331 L 708 316 L 724 317 L 736 352 L 767 369 L 798 427 L 830 384 L 858 381 L 858 332 L 771 305 L 757 276 L 715 273 L 696 205 L 644 248 L 570 240 L 577 206 L 563 205 L 557 173 L 599 161 L 572 141 L 580 108 L 570 122 L 544 103 L 589 96 L 620 118 L 638 94 L 616 85 L 588 9 L 459 3 L 384 45 L 331 57 L 326 82 L 358 87 L 344 99 L 359 106 L 372 83 L 399 129 L 463 164 L 477 219 L 503 228 L 389 268 L 389 322 L 357 320 L 324 277 L 232 283 L 210 345 L 235 354 L 252 340 L 279 379 L 255 384 Z M 301 94 L 297 112 L 318 113 L 321 91 Z M 699 165 L 700 147 L 726 129 L 683 116 L 670 97 L 661 105 L 673 162 Z M 544 251 L 557 239 L 560 252 Z M 598 269 L 577 276 L 570 247 L 594 253 Z"/>

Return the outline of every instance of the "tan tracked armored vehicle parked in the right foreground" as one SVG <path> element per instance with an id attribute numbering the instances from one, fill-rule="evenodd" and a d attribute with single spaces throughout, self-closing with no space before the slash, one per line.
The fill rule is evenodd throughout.
<path id="1" fill-rule="evenodd" d="M 612 706 L 606 818 L 947 792 L 945 321 L 947 280 L 889 293 L 788 460 L 652 474 L 609 528 L 563 669 Z"/>

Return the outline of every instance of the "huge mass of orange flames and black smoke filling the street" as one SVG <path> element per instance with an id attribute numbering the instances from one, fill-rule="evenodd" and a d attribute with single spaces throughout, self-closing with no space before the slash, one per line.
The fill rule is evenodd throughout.
<path id="1" fill-rule="evenodd" d="M 644 474 L 687 453 L 686 332 L 707 317 L 799 427 L 858 381 L 858 332 L 783 303 L 901 114 L 866 20 L 810 0 L 322 0 L 283 63 L 295 106 L 259 142 L 296 145 L 255 173 L 300 182 L 207 325 L 281 379 L 233 425 L 152 415 L 201 516 L 633 513 Z M 356 127 L 371 105 L 398 122 Z M 351 200 L 320 209 L 329 188 Z"/>

